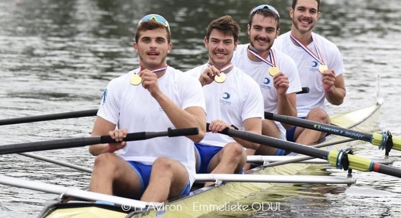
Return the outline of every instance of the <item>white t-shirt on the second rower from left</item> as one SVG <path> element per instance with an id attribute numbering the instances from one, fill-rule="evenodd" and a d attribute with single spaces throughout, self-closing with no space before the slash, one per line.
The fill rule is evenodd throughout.
<path id="1" fill-rule="evenodd" d="M 199 79 L 207 64 L 196 67 L 185 73 Z M 263 97 L 258 85 L 252 78 L 237 67 L 226 73 L 224 83 L 212 83 L 203 86 L 206 100 L 207 122 L 222 120 L 227 124 L 235 125 L 244 130 L 244 123 L 249 118 L 263 118 Z M 223 147 L 227 143 L 235 142 L 229 136 L 206 132 L 200 142 L 202 145 Z"/>

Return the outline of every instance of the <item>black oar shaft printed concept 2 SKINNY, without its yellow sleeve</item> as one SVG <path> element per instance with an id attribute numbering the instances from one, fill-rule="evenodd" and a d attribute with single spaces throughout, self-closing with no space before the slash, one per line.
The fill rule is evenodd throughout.
<path id="1" fill-rule="evenodd" d="M 360 131 L 355 131 L 335 125 L 329 125 L 322 122 L 308 121 L 301 118 L 273 114 L 269 112 L 265 112 L 265 119 L 284 122 L 290 125 L 296 125 L 307 129 L 313 129 L 321 132 L 327 132 L 334 135 L 344 136 L 352 139 L 358 139 L 366 142 L 370 142 L 372 140 L 371 133 L 364 133 Z"/>

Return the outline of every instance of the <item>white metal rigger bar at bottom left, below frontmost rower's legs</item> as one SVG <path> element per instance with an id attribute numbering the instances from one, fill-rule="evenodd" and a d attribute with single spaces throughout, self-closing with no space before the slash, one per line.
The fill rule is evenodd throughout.
<path id="1" fill-rule="evenodd" d="M 139 201 L 125 197 L 118 197 L 108 194 L 100 194 L 79 189 L 67 188 L 64 186 L 52 185 L 43 182 L 24 180 L 5 175 L 0 175 L 0 184 L 20 187 L 24 189 L 31 189 L 51 194 L 61 194 L 64 197 L 74 197 L 90 201 L 97 201 L 97 200 L 107 201 L 114 203 L 115 205 L 118 206 L 125 206 L 126 208 L 132 208 L 132 209 L 146 208 L 148 205 L 160 205 L 160 203 L 158 202 Z"/>

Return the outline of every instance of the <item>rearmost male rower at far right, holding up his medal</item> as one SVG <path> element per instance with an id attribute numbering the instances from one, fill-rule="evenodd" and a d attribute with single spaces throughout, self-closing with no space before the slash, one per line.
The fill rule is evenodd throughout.
<path id="1" fill-rule="evenodd" d="M 334 105 L 343 102 L 344 63 L 333 43 L 312 32 L 320 16 L 319 6 L 320 0 L 293 0 L 291 31 L 280 35 L 274 47 L 295 60 L 302 86 L 309 87 L 308 94 L 297 96 L 298 117 L 329 124 L 325 98 Z M 289 141 L 303 145 L 312 145 L 325 136 L 326 133 L 295 126 L 287 131 Z"/>

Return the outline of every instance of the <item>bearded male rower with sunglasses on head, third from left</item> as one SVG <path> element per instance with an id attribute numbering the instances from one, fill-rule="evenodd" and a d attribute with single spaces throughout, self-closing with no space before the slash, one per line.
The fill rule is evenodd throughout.
<path id="1" fill-rule="evenodd" d="M 253 8 L 248 24 L 250 43 L 238 45 L 232 62 L 257 82 L 266 112 L 297 116 L 296 93 L 301 91 L 297 66 L 289 56 L 272 48 L 280 33 L 279 19 L 277 10 L 271 5 Z M 285 128 L 291 127 L 263 120 L 262 134 L 284 140 Z M 256 154 L 283 155 L 284 150 L 259 146 Z"/>

